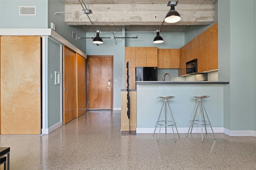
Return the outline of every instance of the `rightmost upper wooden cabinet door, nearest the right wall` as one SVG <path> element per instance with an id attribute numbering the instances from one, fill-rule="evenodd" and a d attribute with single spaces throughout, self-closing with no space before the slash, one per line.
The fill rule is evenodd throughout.
<path id="1" fill-rule="evenodd" d="M 218 69 L 218 23 L 210 27 L 210 70 Z"/>

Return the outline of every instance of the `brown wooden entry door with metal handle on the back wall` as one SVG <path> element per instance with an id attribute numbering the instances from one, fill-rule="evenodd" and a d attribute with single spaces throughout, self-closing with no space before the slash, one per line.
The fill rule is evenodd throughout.
<path id="1" fill-rule="evenodd" d="M 112 109 L 113 56 L 87 56 L 88 109 Z"/>

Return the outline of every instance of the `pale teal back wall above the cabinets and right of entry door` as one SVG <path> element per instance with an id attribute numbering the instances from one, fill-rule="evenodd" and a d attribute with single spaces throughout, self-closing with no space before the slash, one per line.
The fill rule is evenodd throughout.
<path id="1" fill-rule="evenodd" d="M 124 29 L 124 28 L 123 28 Z M 101 30 L 104 31 L 104 30 Z M 154 30 L 152 30 L 154 31 Z M 92 43 L 92 39 L 83 39 L 86 41 L 86 55 L 113 55 L 114 69 L 113 78 L 118 79 L 114 82 L 114 99 L 113 107 L 121 107 L 121 89 L 125 89 L 125 63 L 124 63 L 124 47 L 158 47 L 159 49 L 173 48 L 179 49 L 184 45 L 184 33 L 160 33 L 164 39 L 164 43 L 154 44 L 153 40 L 156 33 L 115 33 L 116 37 L 136 37 L 137 39 L 102 39 L 103 44 L 99 46 Z M 86 37 L 94 37 L 96 33 L 86 33 Z M 100 37 L 113 37 L 112 33 L 101 33 Z M 177 69 L 176 69 L 177 70 Z M 172 71 L 174 72 L 174 71 Z M 177 71 L 176 71 L 177 72 Z M 178 72 L 177 72 L 178 74 Z"/>

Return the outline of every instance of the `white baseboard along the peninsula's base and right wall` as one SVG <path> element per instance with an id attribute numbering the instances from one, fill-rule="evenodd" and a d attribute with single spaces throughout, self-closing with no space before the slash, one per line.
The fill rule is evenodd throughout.
<path id="1" fill-rule="evenodd" d="M 188 133 L 188 127 L 178 127 L 179 133 Z M 254 136 L 256 137 L 256 131 L 254 130 L 247 130 L 247 131 L 233 131 L 226 129 L 224 127 L 212 127 L 214 133 L 225 133 L 229 136 Z M 155 128 L 136 128 L 136 133 L 154 133 Z M 210 127 L 206 128 L 207 132 L 211 133 L 212 130 Z M 166 129 L 167 133 L 172 133 L 172 128 L 168 127 Z M 159 132 L 159 127 L 156 128 L 156 132 Z M 165 133 L 165 128 L 162 127 L 160 133 Z M 177 133 L 175 127 L 174 127 L 174 133 Z M 193 127 L 192 133 L 201 133 L 201 127 Z M 203 128 L 203 133 L 205 133 L 205 129 Z"/>

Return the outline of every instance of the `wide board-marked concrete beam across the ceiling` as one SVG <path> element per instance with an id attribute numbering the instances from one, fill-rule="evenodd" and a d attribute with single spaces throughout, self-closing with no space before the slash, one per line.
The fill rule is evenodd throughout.
<path id="1" fill-rule="evenodd" d="M 80 2 L 92 14 L 66 13 L 68 25 L 82 25 L 86 32 L 100 31 L 155 31 L 159 29 L 170 10 L 168 0 L 63 0 L 65 12 L 82 12 Z M 214 4 L 217 0 L 179 0 L 175 10 L 181 21 L 163 23 L 161 32 L 184 32 L 191 25 L 210 25 L 214 22 Z M 91 21 L 90 21 L 91 20 Z M 94 25 L 94 27 L 93 27 Z"/>

